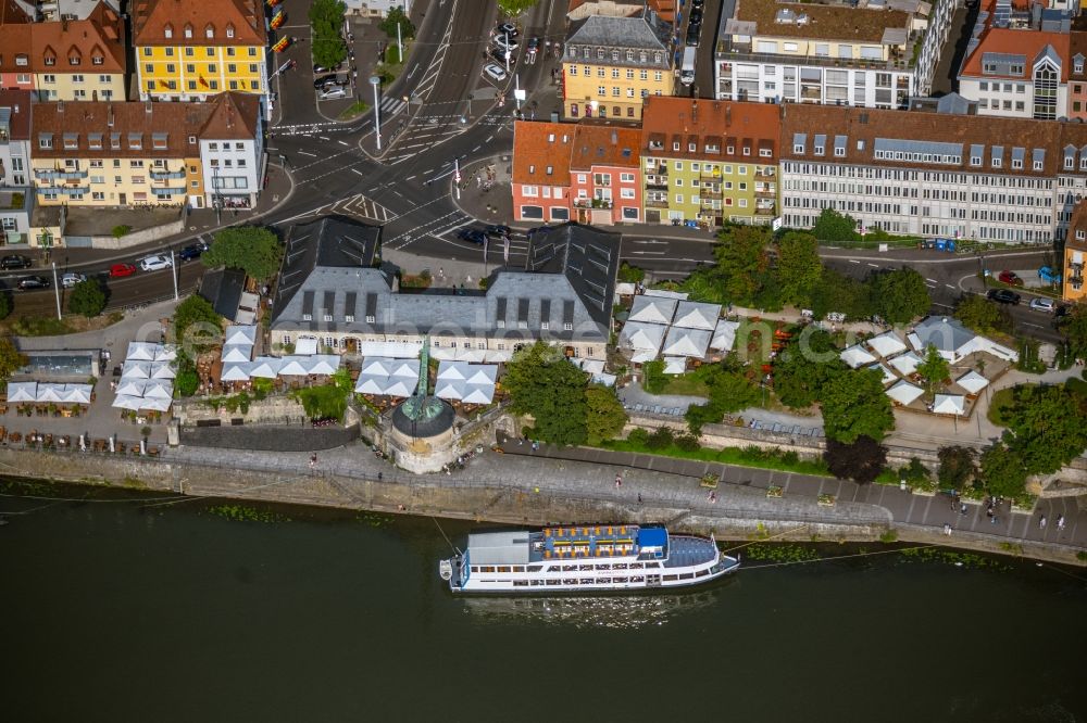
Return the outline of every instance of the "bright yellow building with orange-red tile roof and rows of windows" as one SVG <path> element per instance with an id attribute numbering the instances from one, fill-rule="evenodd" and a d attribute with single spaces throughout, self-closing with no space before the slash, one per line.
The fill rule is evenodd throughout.
<path id="1" fill-rule="evenodd" d="M 257 0 L 136 0 L 140 100 L 267 92 L 264 9 Z"/>

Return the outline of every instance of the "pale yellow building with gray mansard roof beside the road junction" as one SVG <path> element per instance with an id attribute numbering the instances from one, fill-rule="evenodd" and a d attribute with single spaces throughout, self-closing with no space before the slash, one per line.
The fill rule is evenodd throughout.
<path id="1" fill-rule="evenodd" d="M 634 17 L 592 15 L 567 37 L 562 62 L 567 118 L 637 120 L 650 96 L 672 96 L 670 34 L 651 10 Z"/>

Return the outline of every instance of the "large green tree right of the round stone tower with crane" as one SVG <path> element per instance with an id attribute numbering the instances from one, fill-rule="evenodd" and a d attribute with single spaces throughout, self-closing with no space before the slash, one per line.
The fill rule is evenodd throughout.
<path id="1" fill-rule="evenodd" d="M 586 428 L 585 385 L 589 376 L 542 341 L 517 352 L 503 383 L 514 414 L 532 415 L 535 433 L 546 442 L 582 444 Z"/>

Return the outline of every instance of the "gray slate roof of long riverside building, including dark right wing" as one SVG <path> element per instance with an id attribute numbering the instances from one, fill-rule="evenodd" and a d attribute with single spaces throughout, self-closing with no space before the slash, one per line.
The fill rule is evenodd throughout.
<path id="1" fill-rule="evenodd" d="M 540 229 L 532 243 L 533 268 L 497 272 L 486 293 L 393 293 L 392 279 L 382 269 L 317 265 L 304 277 L 286 281 L 291 290 L 277 295 L 272 326 L 312 332 L 605 342 L 620 237 L 565 225 Z"/>

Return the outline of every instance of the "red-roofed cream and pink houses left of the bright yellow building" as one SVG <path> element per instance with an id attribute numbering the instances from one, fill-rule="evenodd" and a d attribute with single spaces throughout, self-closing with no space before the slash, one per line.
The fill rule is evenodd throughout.
<path id="1" fill-rule="evenodd" d="M 125 100 L 124 18 L 105 2 L 84 17 L 34 22 L 16 0 L 0 0 L 0 89 L 38 100 Z"/>

